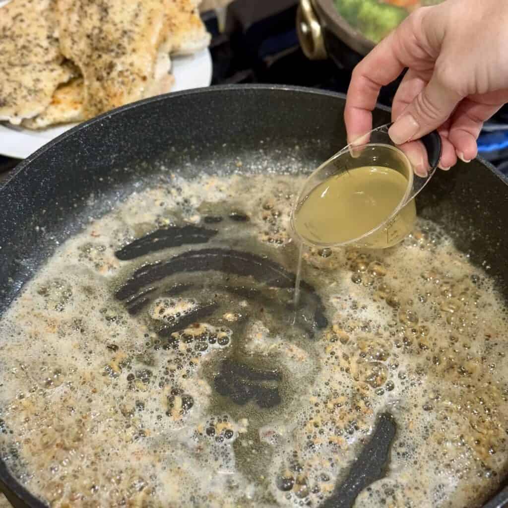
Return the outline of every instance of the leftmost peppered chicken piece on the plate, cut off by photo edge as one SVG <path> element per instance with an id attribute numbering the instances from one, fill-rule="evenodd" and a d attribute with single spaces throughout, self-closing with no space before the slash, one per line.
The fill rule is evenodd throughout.
<path id="1" fill-rule="evenodd" d="M 55 0 L 12 0 L 0 8 L 0 120 L 34 117 L 73 77 L 56 28 Z"/>

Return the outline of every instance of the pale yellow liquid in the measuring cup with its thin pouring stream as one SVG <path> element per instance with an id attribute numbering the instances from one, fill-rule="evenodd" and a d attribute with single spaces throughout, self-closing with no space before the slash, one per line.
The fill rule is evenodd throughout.
<path id="1" fill-rule="evenodd" d="M 382 224 L 397 208 L 407 190 L 407 179 L 398 171 L 364 166 L 331 176 L 317 185 L 297 208 L 293 225 L 300 239 L 294 306 L 300 297 L 304 242 L 310 245 L 347 244 Z M 401 212 L 409 228 L 416 216 L 414 204 Z M 398 232 L 405 236 L 404 227 Z M 401 239 L 401 238 L 400 238 Z M 375 242 L 378 241 L 379 244 Z M 387 247 L 397 238 L 378 235 L 375 247 Z"/>

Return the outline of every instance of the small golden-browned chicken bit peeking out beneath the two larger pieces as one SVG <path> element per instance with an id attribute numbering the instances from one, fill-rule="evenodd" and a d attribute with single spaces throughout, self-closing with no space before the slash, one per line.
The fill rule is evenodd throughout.
<path id="1" fill-rule="evenodd" d="M 49 106 L 34 118 L 23 120 L 27 129 L 44 129 L 57 123 L 73 123 L 85 120 L 83 115 L 83 78 L 59 86 Z"/>

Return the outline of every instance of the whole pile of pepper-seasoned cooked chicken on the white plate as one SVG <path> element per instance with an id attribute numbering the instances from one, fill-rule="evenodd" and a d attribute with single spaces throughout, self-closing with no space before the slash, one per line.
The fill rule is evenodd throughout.
<path id="1" fill-rule="evenodd" d="M 195 0 L 11 0 L 0 8 L 0 121 L 41 129 L 170 91 L 170 54 L 210 41 Z"/>

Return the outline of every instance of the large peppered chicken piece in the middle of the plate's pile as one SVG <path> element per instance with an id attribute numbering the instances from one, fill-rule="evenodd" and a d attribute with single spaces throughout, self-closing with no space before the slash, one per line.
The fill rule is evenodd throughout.
<path id="1" fill-rule="evenodd" d="M 170 65 L 158 54 L 168 2 L 57 0 L 61 51 L 84 78 L 85 118 L 153 93 L 157 67 Z"/>

